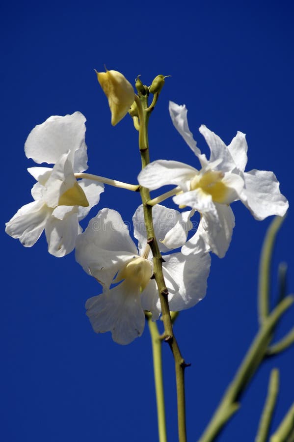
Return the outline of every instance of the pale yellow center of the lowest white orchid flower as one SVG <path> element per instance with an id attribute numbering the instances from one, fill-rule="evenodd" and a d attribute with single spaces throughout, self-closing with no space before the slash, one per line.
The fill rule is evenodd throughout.
<path id="1" fill-rule="evenodd" d="M 132 285 L 141 287 L 141 290 L 147 286 L 152 276 L 151 262 L 145 258 L 134 258 L 129 261 L 118 273 L 115 282 L 126 279 Z"/>

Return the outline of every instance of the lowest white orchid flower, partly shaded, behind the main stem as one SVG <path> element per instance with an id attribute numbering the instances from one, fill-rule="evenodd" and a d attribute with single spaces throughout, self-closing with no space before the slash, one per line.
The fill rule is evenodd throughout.
<path id="1" fill-rule="evenodd" d="M 164 209 L 161 208 L 161 225 L 168 231 L 170 209 Z M 76 260 L 103 285 L 103 293 L 86 302 L 92 327 L 97 333 L 111 331 L 112 339 L 119 344 L 129 344 L 142 334 L 144 310 L 152 312 L 154 321 L 160 315 L 158 289 L 151 279 L 152 256 L 140 208 L 133 220 L 139 251 L 120 214 L 111 209 L 100 210 L 76 242 Z M 158 221 L 155 214 L 155 225 Z M 205 296 L 210 262 L 209 254 L 164 255 L 163 275 L 171 310 L 191 307 Z"/>

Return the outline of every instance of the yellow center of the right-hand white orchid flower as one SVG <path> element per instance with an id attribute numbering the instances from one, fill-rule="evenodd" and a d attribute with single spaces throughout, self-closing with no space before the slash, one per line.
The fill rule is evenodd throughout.
<path id="1" fill-rule="evenodd" d="M 228 194 L 227 186 L 222 182 L 223 172 L 208 170 L 197 174 L 190 182 L 190 190 L 201 189 L 202 192 L 212 195 L 213 201 L 224 203 Z"/>

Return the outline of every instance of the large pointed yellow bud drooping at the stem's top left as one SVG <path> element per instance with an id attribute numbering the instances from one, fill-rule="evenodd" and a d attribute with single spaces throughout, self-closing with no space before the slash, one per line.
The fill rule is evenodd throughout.
<path id="1" fill-rule="evenodd" d="M 118 71 L 96 71 L 96 74 L 108 99 L 111 124 L 115 126 L 128 113 L 134 103 L 134 88 Z"/>

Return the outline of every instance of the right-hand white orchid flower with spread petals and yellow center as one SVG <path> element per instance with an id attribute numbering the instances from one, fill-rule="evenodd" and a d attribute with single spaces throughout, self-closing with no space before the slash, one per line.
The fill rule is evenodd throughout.
<path id="1" fill-rule="evenodd" d="M 255 169 L 244 172 L 247 163 L 245 134 L 238 132 L 231 144 L 226 146 L 214 132 L 202 125 L 199 131 L 211 151 L 208 161 L 188 128 L 186 106 L 170 102 L 169 112 L 175 128 L 199 159 L 201 169 L 177 161 L 158 160 L 139 173 L 138 181 L 149 190 L 167 184 L 179 186 L 173 201 L 200 212 L 198 231 L 183 247 L 183 253 L 212 250 L 223 257 L 235 225 L 229 206 L 233 201 L 240 199 L 257 220 L 270 215 L 283 216 L 288 209 L 288 201 L 280 193 L 279 182 L 273 172 Z"/>

